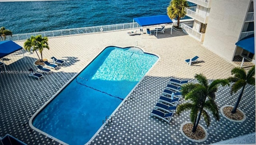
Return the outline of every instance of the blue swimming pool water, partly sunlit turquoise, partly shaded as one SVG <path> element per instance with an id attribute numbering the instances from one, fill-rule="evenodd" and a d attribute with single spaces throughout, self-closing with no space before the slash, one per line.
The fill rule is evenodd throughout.
<path id="1" fill-rule="evenodd" d="M 128 48 L 104 49 L 32 124 L 70 145 L 85 144 L 157 60 Z"/>

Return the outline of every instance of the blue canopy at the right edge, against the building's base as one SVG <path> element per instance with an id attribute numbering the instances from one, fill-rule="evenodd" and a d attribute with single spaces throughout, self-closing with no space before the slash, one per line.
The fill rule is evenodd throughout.
<path id="1" fill-rule="evenodd" d="M 254 34 L 236 42 L 236 46 L 254 54 Z"/>

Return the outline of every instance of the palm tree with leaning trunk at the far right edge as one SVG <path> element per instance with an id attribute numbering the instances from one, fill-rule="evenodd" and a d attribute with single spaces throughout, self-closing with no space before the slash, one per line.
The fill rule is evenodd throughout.
<path id="1" fill-rule="evenodd" d="M 242 98 L 246 84 L 255 85 L 255 66 L 253 66 L 247 73 L 244 69 L 236 67 L 231 70 L 231 74 L 234 76 L 228 77 L 228 81 L 233 82 L 234 84 L 231 86 L 230 94 L 232 95 L 233 93 L 236 93 L 242 87 L 242 90 L 237 98 L 236 104 L 233 110 L 231 111 L 231 113 L 236 113 L 236 109 Z"/>

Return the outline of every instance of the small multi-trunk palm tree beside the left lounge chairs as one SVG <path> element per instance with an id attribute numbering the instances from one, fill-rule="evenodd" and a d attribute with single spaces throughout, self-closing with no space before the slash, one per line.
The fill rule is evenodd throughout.
<path id="1" fill-rule="evenodd" d="M 41 35 L 37 35 L 36 37 L 31 36 L 24 43 L 24 49 L 30 52 L 31 48 L 32 48 L 33 52 L 36 51 L 36 50 L 38 50 L 40 52 L 41 59 L 40 59 L 37 51 L 36 51 L 36 54 L 37 54 L 40 62 L 42 62 L 43 61 L 43 50 L 44 50 L 44 48 L 47 48 L 48 50 L 50 49 L 49 46 L 48 46 L 48 38 L 47 37 L 42 38 Z"/>

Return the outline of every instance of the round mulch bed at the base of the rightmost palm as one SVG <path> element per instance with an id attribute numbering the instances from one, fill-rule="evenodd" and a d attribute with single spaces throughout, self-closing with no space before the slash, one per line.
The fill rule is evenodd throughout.
<path id="1" fill-rule="evenodd" d="M 233 107 L 231 106 L 224 107 L 223 108 L 224 115 L 233 120 L 242 120 L 244 118 L 244 114 L 240 110 L 236 109 L 236 113 L 232 114 L 231 113 L 232 109 Z"/>

